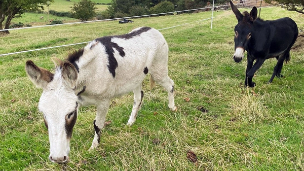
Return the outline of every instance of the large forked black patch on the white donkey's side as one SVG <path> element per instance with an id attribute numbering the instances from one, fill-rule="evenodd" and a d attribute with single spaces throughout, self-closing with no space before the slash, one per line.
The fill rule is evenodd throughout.
<path id="1" fill-rule="evenodd" d="M 108 60 L 109 60 L 109 64 L 107 64 L 107 67 L 109 72 L 112 74 L 113 78 L 115 78 L 116 75 L 115 69 L 117 68 L 118 63 L 116 58 L 114 57 L 113 48 L 115 48 L 122 57 L 124 57 L 126 54 L 124 52 L 124 48 L 118 46 L 117 43 L 111 42 L 111 39 L 112 39 L 111 36 L 106 36 L 106 37 L 98 38 L 96 39 L 96 41 L 99 41 L 105 46 L 105 52 L 108 54 Z"/>

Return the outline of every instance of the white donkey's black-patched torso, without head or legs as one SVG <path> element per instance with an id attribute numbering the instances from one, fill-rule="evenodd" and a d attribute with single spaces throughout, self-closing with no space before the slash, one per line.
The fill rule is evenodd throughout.
<path id="1" fill-rule="evenodd" d="M 84 48 L 76 65 L 83 75 L 79 81 L 87 82 L 83 95 L 99 94 L 100 98 L 132 91 L 148 73 L 161 82 L 168 74 L 167 63 L 168 45 L 163 35 L 154 28 L 141 27 L 126 35 L 95 39 Z"/>

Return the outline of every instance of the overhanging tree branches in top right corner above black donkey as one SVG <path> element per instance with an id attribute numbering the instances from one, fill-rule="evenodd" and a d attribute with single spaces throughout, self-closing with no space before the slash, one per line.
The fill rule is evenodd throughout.
<path id="1" fill-rule="evenodd" d="M 265 0 L 265 3 L 280 5 L 288 11 L 304 14 L 304 0 Z"/>

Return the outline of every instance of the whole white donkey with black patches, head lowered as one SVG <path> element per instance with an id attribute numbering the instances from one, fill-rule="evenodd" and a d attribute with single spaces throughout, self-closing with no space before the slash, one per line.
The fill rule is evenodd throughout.
<path id="1" fill-rule="evenodd" d="M 43 88 L 38 107 L 49 131 L 49 159 L 56 163 L 67 162 L 72 128 L 81 106 L 97 107 L 90 150 L 99 144 L 110 99 L 130 91 L 134 93 L 134 105 L 127 125 L 132 125 L 142 103 L 141 84 L 148 73 L 151 85 L 156 81 L 168 91 L 169 108 L 176 111 L 174 82 L 168 77 L 167 63 L 166 40 L 150 27 L 95 39 L 84 49 L 59 61 L 55 74 L 28 60 L 27 75 L 37 87 Z"/>

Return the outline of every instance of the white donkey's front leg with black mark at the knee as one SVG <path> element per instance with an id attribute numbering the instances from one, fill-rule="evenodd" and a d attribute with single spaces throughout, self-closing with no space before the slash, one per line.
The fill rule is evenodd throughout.
<path id="1" fill-rule="evenodd" d="M 109 108 L 109 99 L 102 100 L 97 106 L 97 115 L 93 122 L 95 129 L 95 136 L 92 142 L 92 146 L 89 150 L 94 150 L 100 143 L 100 133 L 104 126 L 105 116 Z"/>

